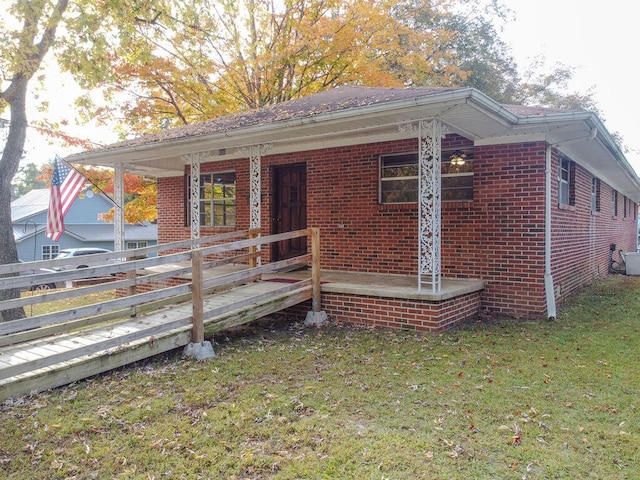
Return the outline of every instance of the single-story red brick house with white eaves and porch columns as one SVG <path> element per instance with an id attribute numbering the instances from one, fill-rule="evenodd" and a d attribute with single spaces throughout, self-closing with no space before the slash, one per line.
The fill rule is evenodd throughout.
<path id="1" fill-rule="evenodd" d="M 609 274 L 612 244 L 637 248 L 640 179 L 595 114 L 469 88 L 340 87 L 68 161 L 157 176 L 161 243 L 319 227 L 323 309 L 340 320 L 554 317 Z"/>

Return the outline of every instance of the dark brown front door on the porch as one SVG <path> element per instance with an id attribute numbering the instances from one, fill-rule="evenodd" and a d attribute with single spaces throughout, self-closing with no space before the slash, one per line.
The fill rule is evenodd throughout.
<path id="1" fill-rule="evenodd" d="M 275 167 L 273 179 L 272 232 L 284 233 L 307 228 L 307 166 Z M 272 250 L 274 260 L 306 253 L 306 237 L 278 242 Z"/>

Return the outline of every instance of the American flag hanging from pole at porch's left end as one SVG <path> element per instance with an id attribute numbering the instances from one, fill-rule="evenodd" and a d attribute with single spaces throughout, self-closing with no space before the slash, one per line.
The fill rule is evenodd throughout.
<path id="1" fill-rule="evenodd" d="M 64 232 L 64 216 L 71 208 L 86 179 L 67 162 L 56 157 L 51 178 L 51 195 L 47 214 L 47 237 L 54 242 L 60 240 Z"/>

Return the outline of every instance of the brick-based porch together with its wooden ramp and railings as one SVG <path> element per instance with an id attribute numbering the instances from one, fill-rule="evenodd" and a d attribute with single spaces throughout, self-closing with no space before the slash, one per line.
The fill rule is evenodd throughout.
<path id="1" fill-rule="evenodd" d="M 309 312 L 324 310 L 337 322 L 437 332 L 480 310 L 484 288 L 480 280 L 443 279 L 438 293 L 418 291 L 417 278 L 412 276 L 322 272 L 315 229 L 247 236 L 251 232 L 96 254 L 100 266 L 69 271 L 7 276 L 36 266 L 84 260 L 0 266 L 0 275 L 5 274 L 0 288 L 115 275 L 109 282 L 0 302 L 1 309 L 65 302 L 63 310 L 0 324 L 0 400 L 64 385 L 185 345 L 203 345 L 205 333 L 212 335 L 280 311 L 305 318 Z M 300 236 L 309 237 L 310 254 L 255 265 L 258 245 Z M 160 251 L 165 255 L 141 258 Z M 109 263 L 111 259 L 120 261 Z M 73 305 L 75 297 L 105 291 L 119 294 L 98 303 Z"/>

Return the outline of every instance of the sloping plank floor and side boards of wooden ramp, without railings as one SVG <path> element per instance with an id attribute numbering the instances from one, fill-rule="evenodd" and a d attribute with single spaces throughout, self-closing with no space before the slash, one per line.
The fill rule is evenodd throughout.
<path id="1" fill-rule="evenodd" d="M 311 282 L 261 281 L 204 300 L 211 334 L 311 299 Z M 0 401 L 102 373 L 191 342 L 190 303 L 0 347 Z"/>

